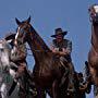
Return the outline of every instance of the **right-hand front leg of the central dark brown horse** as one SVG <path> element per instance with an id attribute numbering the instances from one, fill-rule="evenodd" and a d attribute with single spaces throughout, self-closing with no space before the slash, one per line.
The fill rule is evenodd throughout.
<path id="1" fill-rule="evenodd" d="M 52 84 L 52 96 L 53 98 L 59 98 L 59 84 L 57 79 Z"/>

